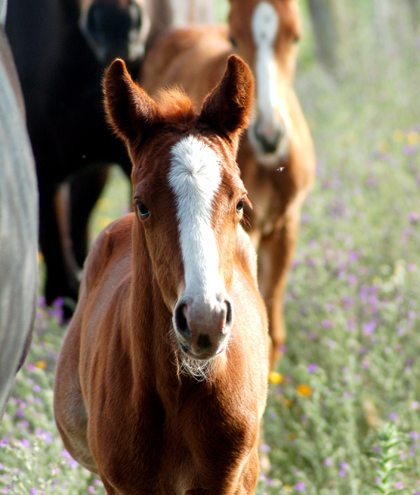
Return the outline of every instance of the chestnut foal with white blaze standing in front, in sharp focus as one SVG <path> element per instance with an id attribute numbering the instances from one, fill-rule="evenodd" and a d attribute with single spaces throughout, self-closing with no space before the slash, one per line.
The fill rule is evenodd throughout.
<path id="1" fill-rule="evenodd" d="M 86 260 L 57 363 L 58 429 L 108 495 L 252 494 L 269 366 L 235 162 L 251 73 L 229 58 L 199 115 L 178 90 L 152 100 L 121 60 L 104 86 L 136 211 Z"/>

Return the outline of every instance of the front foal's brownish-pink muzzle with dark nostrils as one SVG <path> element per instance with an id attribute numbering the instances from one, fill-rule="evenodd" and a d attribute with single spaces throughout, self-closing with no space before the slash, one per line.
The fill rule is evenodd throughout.
<path id="1" fill-rule="evenodd" d="M 197 360 L 212 359 L 225 348 L 233 324 L 229 298 L 215 305 L 179 301 L 173 317 L 182 351 Z"/>

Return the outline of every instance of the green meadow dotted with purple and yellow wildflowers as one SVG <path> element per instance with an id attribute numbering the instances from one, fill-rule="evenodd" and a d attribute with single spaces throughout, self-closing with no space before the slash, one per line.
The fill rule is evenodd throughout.
<path id="1" fill-rule="evenodd" d="M 257 495 L 420 494 L 420 33 L 403 2 L 336 0 L 339 65 L 315 60 L 305 5 L 296 89 L 317 153 L 270 375 Z M 225 5 L 221 5 L 223 17 Z M 92 237 L 126 211 L 119 170 Z M 40 280 L 42 285 L 42 260 Z M 64 450 L 52 383 L 62 301 L 39 297 L 30 354 L 0 425 L 0 493 L 102 494 Z"/>

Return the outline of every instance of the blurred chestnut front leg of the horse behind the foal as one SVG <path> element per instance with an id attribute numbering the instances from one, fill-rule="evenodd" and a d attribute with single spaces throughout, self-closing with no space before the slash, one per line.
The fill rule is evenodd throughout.
<path id="1" fill-rule="evenodd" d="M 281 346 L 286 339 L 283 296 L 299 221 L 300 205 L 299 208 L 287 212 L 280 225 L 272 233 L 261 238 L 258 247 L 259 288 L 267 306 L 271 337 L 270 369 L 275 368 L 281 356 Z"/>

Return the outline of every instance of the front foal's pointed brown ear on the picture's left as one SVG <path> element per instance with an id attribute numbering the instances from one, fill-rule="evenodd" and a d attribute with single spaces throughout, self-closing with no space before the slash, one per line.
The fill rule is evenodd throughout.
<path id="1" fill-rule="evenodd" d="M 107 121 L 127 144 L 140 141 L 161 121 L 156 103 L 133 82 L 123 60 L 108 67 L 103 88 Z"/>

